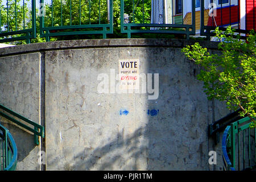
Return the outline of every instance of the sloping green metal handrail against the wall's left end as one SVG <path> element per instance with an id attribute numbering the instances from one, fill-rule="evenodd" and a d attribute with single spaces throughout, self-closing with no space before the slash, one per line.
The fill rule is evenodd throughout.
<path id="1" fill-rule="evenodd" d="M 34 133 L 35 144 L 39 144 L 39 137 L 44 138 L 44 127 L 43 126 L 39 125 L 38 123 L 35 123 L 34 121 L 31 121 L 30 119 L 23 117 L 20 114 L 15 113 L 14 111 L 8 109 L 7 107 L 5 107 L 1 104 L 0 104 L 0 115 L 2 117 L 5 117 L 9 121 L 14 122 L 17 125 L 23 127 L 24 129 Z"/>

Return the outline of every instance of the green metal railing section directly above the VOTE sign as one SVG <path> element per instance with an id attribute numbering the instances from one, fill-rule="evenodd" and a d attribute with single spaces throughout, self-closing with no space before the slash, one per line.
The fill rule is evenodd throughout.
<path id="1" fill-rule="evenodd" d="M 150 3 L 151 17 L 149 16 L 148 19 L 143 0 L 138 0 L 137 2 L 131 0 L 128 3 L 121 0 L 121 32 L 127 34 L 127 38 L 131 38 L 131 34 L 135 33 L 184 34 L 187 39 L 189 39 L 189 35 L 195 35 L 195 0 L 192 0 L 191 24 L 183 24 L 183 21 L 175 24 L 174 10 L 167 11 L 167 6 L 165 5 L 166 1 L 164 0 L 159 0 L 158 3 L 159 4 L 156 6 L 158 10 L 156 11 L 153 9 L 154 6 Z M 174 3 L 171 3 L 172 7 L 174 7 Z M 129 6 L 132 6 L 132 9 L 129 9 Z M 181 11 L 180 14 L 183 17 L 183 4 Z M 171 15 L 168 15 L 168 12 L 171 13 Z"/>

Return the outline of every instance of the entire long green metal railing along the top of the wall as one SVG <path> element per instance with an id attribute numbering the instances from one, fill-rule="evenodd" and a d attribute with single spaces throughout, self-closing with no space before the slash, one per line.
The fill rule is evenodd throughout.
<path id="1" fill-rule="evenodd" d="M 16 40 L 30 43 L 37 35 L 46 41 L 53 36 L 67 39 L 67 35 L 72 36 L 70 39 L 73 36 L 83 39 L 85 35 L 94 34 L 106 38 L 113 34 L 114 28 L 127 34 L 127 38 L 132 34 L 154 33 L 186 35 L 189 39 L 190 35 L 200 31 L 201 36 L 209 39 L 215 36 L 216 27 L 225 30 L 229 25 L 241 35 L 249 33 L 241 28 L 239 0 L 224 4 L 221 0 L 40 0 L 38 6 L 36 0 L 0 2 L 0 43 Z M 217 3 L 217 7 L 210 9 L 209 2 Z M 115 15 L 113 5 L 115 10 L 120 6 Z M 216 15 L 210 12 L 216 12 Z M 248 16 L 254 15 L 253 10 Z M 115 31 L 115 34 L 115 38 L 122 37 L 119 32 Z"/>

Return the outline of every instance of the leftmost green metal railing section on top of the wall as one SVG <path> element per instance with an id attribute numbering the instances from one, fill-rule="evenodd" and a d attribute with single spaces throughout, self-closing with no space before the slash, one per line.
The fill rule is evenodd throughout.
<path id="1" fill-rule="evenodd" d="M 0 43 L 16 40 L 30 43 L 31 39 L 36 38 L 35 1 L 6 0 L 6 5 L 0 2 Z M 31 10 L 28 12 L 28 9 Z"/>

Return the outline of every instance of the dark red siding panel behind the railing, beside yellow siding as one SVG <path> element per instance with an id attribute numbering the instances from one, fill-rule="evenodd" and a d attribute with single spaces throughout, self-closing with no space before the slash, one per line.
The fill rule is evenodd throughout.
<path id="1" fill-rule="evenodd" d="M 256 0 L 255 0 L 256 1 Z M 237 23 L 238 22 L 238 6 L 231 6 L 231 7 L 224 7 L 221 9 L 217 9 L 216 15 L 214 16 L 214 19 L 216 21 L 217 26 L 226 26 L 230 23 Z M 221 16 L 222 13 L 222 16 Z M 229 16 L 231 13 L 231 16 Z M 221 23 L 222 18 L 222 23 Z M 212 17 L 209 17 L 208 19 L 208 26 L 216 26 L 214 20 Z"/>

